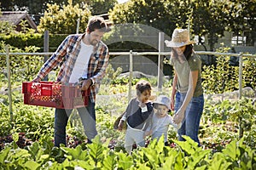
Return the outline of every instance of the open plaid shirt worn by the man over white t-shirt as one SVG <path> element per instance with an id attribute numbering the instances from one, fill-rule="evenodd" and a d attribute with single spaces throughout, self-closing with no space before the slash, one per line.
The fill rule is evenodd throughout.
<path id="1" fill-rule="evenodd" d="M 38 77 L 43 79 L 49 71 L 55 69 L 61 65 L 58 73 L 57 82 L 68 83 L 73 66 L 75 65 L 76 59 L 79 56 L 81 48 L 81 41 L 84 34 L 81 35 L 70 35 L 61 42 L 61 45 L 54 54 L 44 63 Z M 102 41 L 100 41 L 94 48 L 90 55 L 90 61 L 88 64 L 87 78 L 92 79 L 93 85 L 90 87 L 90 99 L 92 102 L 96 100 L 96 94 L 100 88 L 100 83 L 105 75 L 105 71 L 108 67 L 108 47 Z"/>

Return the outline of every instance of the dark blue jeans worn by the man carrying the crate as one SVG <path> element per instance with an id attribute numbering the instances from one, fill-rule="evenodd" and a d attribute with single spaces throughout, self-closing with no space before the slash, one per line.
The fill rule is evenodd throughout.
<path id="1" fill-rule="evenodd" d="M 79 116 L 84 125 L 84 133 L 91 141 L 97 134 L 96 131 L 96 115 L 95 115 L 95 103 L 92 103 L 89 99 L 89 104 L 86 107 L 77 109 Z M 66 145 L 66 127 L 68 117 L 73 110 L 55 109 L 55 146 L 60 144 Z"/>

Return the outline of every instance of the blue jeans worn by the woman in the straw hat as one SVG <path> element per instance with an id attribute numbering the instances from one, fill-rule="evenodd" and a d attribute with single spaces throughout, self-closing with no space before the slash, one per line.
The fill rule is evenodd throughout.
<path id="1" fill-rule="evenodd" d="M 177 92 L 175 99 L 175 113 L 183 104 L 183 100 L 185 99 L 186 94 L 182 94 Z M 185 118 L 183 120 L 182 127 L 177 130 L 178 139 L 180 141 L 184 141 L 182 135 L 189 136 L 195 142 L 200 145 L 200 141 L 198 139 L 198 131 L 199 124 L 201 120 L 201 114 L 204 107 L 204 96 L 201 94 L 199 97 L 193 97 L 187 106 L 185 111 Z"/>

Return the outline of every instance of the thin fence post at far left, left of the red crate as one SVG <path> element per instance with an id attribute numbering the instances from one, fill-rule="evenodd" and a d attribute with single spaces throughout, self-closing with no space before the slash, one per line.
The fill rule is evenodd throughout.
<path id="1" fill-rule="evenodd" d="M 8 98 L 9 98 L 9 116 L 10 122 L 14 120 L 13 116 L 13 101 L 12 101 L 12 90 L 11 90 L 11 78 L 10 78 L 10 65 L 9 65 L 9 45 L 5 46 L 6 51 L 6 65 L 7 65 L 7 77 L 8 77 Z"/>

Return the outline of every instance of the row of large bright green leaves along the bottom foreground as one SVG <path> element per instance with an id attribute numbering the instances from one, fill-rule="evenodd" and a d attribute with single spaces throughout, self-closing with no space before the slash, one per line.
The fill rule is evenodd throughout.
<path id="1" fill-rule="evenodd" d="M 222 152 L 212 155 L 192 139 L 175 141 L 177 148 L 166 147 L 163 139 L 152 141 L 148 148 L 133 150 L 131 155 L 109 150 L 99 139 L 88 148 L 52 148 L 59 154 L 46 154 L 35 142 L 26 150 L 6 147 L 0 152 L 0 167 L 4 169 L 253 169 L 256 166 L 255 150 L 243 144 L 244 140 L 232 141 Z M 60 151 L 64 151 L 64 155 Z M 55 161 L 62 156 L 62 161 Z M 59 157 L 60 158 L 60 157 Z M 58 159 L 59 159 L 58 158 Z"/>

